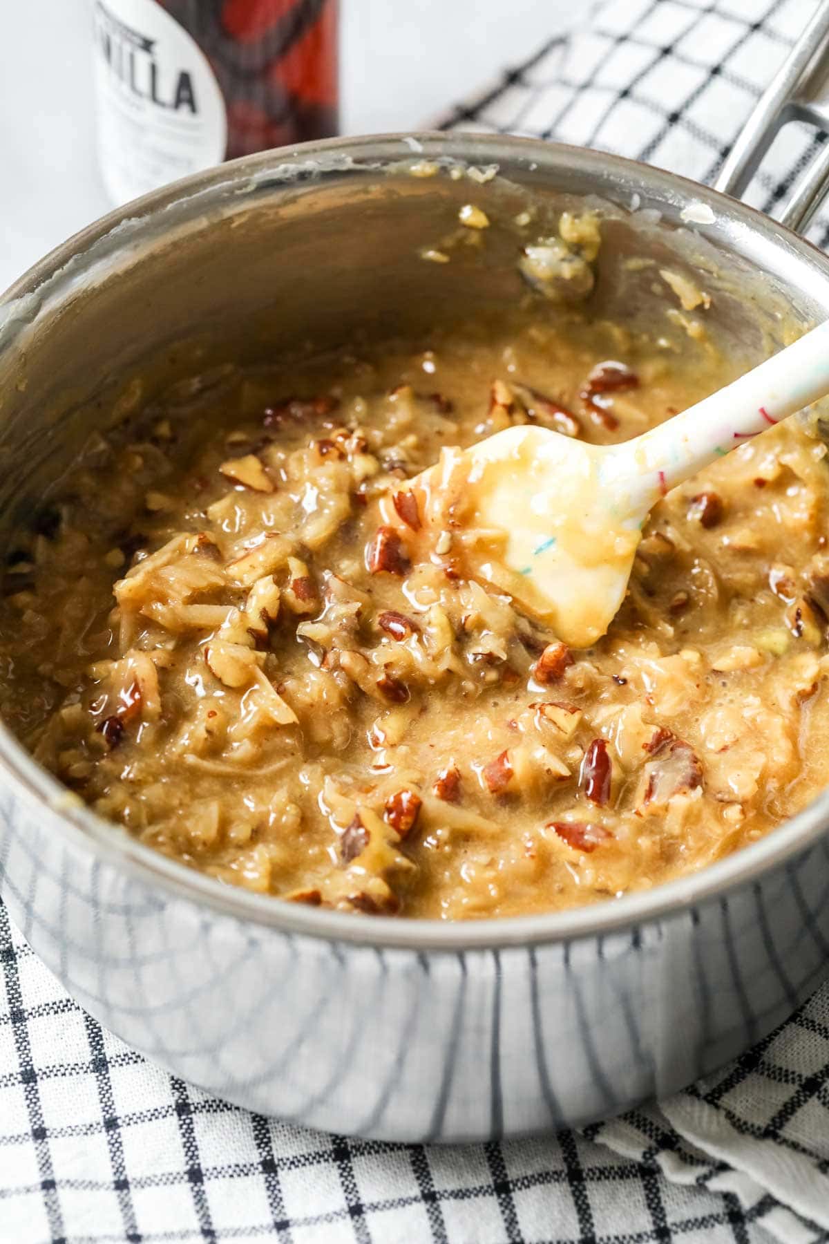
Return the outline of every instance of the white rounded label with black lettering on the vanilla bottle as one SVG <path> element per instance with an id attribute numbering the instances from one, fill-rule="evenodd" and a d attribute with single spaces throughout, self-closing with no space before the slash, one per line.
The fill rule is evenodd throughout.
<path id="1" fill-rule="evenodd" d="M 126 203 L 225 158 L 225 102 L 206 56 L 157 0 L 96 0 L 98 151 Z"/>

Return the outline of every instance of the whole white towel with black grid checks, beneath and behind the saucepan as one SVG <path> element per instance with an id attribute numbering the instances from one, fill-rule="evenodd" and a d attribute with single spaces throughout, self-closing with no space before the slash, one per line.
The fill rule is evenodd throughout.
<path id="1" fill-rule="evenodd" d="M 820 0 L 829 2 L 829 0 Z M 444 128 L 711 180 L 814 0 L 611 0 Z M 787 131 L 773 211 L 824 136 Z M 813 236 L 829 243 L 820 221 Z M 0 907 L 0 1242 L 829 1242 L 829 986 L 722 1072 L 557 1138 L 348 1141 L 188 1088 L 85 1015 Z"/>

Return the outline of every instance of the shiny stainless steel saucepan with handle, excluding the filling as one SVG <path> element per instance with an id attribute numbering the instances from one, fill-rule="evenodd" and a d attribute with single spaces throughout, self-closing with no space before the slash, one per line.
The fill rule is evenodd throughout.
<path id="1" fill-rule="evenodd" d="M 237 160 L 86 229 L 0 302 L 0 552 L 91 430 L 157 383 L 346 332 L 497 315 L 526 295 L 512 221 L 528 203 L 539 221 L 600 211 L 593 297 L 635 327 L 664 302 L 630 256 L 703 271 L 735 369 L 824 320 L 829 260 L 793 229 L 827 160 L 788 226 L 722 192 L 742 189 L 778 123 L 820 121 L 812 49 L 828 27 L 824 12 L 718 190 L 518 138 L 349 138 Z M 425 261 L 470 200 L 496 225 L 486 245 Z M 359 1136 L 517 1136 L 670 1093 L 815 989 L 829 972 L 829 794 L 651 891 L 546 916 L 404 921 L 189 871 L 96 819 L 1 730 L 0 892 L 83 1008 L 211 1093 Z"/>

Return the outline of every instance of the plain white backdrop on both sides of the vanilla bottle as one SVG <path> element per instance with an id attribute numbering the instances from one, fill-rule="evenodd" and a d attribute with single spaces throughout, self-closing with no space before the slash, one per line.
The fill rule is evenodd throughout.
<path id="1" fill-rule="evenodd" d="M 423 128 L 562 29 L 564 0 L 341 0 L 344 133 Z M 89 0 L 0 0 L 0 290 L 111 207 Z"/>

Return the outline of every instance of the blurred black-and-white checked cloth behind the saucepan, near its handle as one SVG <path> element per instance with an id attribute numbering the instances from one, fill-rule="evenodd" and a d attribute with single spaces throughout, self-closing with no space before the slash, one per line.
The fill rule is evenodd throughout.
<path id="1" fill-rule="evenodd" d="M 595 147 L 713 182 L 815 0 L 609 0 L 554 39 L 441 129 L 500 131 Z M 789 124 L 748 203 L 774 215 L 825 133 Z M 827 218 L 809 238 L 829 245 Z"/>

